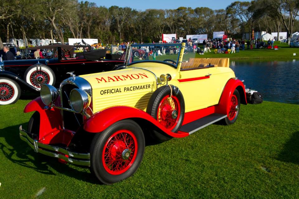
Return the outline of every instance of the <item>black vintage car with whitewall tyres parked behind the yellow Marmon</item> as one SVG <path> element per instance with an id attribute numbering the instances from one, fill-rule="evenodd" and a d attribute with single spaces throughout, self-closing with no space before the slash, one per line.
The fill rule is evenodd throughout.
<path id="1" fill-rule="evenodd" d="M 124 55 L 106 54 L 103 49 L 83 52 L 77 57 L 73 57 L 72 45 L 55 44 L 27 49 L 54 49 L 53 57 L 0 62 L 0 105 L 17 102 L 21 90 L 39 91 L 43 84 L 55 86 L 70 76 L 68 72 L 76 75 L 98 73 L 124 64 Z"/>

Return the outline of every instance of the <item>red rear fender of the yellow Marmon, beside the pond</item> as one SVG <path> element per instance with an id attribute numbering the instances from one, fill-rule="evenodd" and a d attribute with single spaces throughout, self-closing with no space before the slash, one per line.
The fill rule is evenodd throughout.
<path id="1" fill-rule="evenodd" d="M 215 112 L 226 115 L 228 113 L 228 102 L 230 100 L 230 96 L 234 93 L 235 89 L 237 89 L 240 93 L 241 103 L 247 104 L 246 93 L 243 82 L 239 79 L 230 79 L 225 85 L 225 88 L 222 92 L 220 101 L 218 105 L 215 106 Z"/>

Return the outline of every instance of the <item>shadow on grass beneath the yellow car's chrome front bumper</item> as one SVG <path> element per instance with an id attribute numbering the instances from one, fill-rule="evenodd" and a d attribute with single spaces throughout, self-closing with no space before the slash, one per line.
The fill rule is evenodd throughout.
<path id="1" fill-rule="evenodd" d="M 27 124 L 21 125 L 24 129 L 27 129 Z M 63 175 L 67 175 L 78 180 L 93 184 L 100 184 L 97 178 L 88 171 L 88 167 L 76 166 L 78 168 L 84 168 L 80 169 L 81 171 L 78 171 L 78 169 L 72 168 L 69 164 L 59 163 L 56 158 L 35 153 L 26 142 L 20 139 L 19 125 L 0 129 L 0 137 L 5 139 L 4 143 L 0 142 L 0 150 L 4 156 L 13 163 L 26 168 L 31 168 L 46 175 L 56 175 L 56 173 L 53 172 L 54 169 Z"/>

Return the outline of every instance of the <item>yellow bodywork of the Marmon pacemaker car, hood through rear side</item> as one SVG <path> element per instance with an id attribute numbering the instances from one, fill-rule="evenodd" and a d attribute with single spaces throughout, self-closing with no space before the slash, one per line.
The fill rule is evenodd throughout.
<path id="1" fill-rule="evenodd" d="M 149 72 L 150 71 L 150 72 Z M 177 86 L 185 100 L 185 112 L 194 111 L 219 102 L 222 90 L 235 74 L 230 68 L 211 67 L 195 70 L 178 71 L 164 63 L 143 62 L 128 66 L 127 69 L 81 75 L 93 89 L 93 112 L 112 106 L 131 106 L 145 111 L 151 94 L 160 86 L 161 74 L 170 74 L 168 84 Z M 155 77 L 154 74 L 157 76 Z M 209 78 L 192 80 L 192 78 Z M 179 80 L 191 79 L 180 82 Z"/>

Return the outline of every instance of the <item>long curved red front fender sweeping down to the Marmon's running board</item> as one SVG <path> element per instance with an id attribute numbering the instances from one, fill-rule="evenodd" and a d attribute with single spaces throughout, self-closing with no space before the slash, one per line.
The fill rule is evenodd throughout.
<path id="1" fill-rule="evenodd" d="M 167 130 L 164 126 L 162 126 L 157 120 L 155 120 L 146 112 L 141 111 L 137 108 L 125 106 L 110 107 L 94 114 L 85 122 L 83 128 L 88 132 L 97 133 L 107 129 L 107 127 L 111 126 L 113 123 L 117 121 L 130 118 L 140 118 L 149 121 L 153 125 L 157 126 L 160 130 L 172 137 L 181 138 L 189 135 L 188 133 L 173 133 Z"/>

